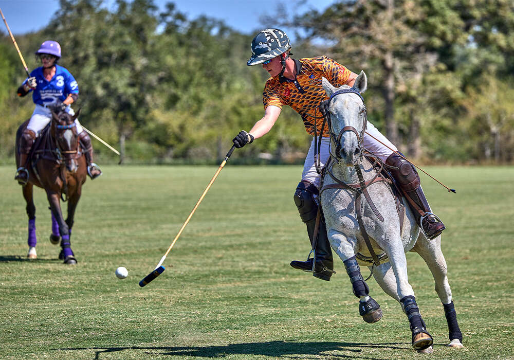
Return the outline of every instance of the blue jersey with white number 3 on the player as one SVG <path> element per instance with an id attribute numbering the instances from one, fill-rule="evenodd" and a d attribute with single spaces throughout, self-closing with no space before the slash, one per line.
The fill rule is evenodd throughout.
<path id="1" fill-rule="evenodd" d="M 78 94 L 79 85 L 71 73 L 62 66 L 56 65 L 56 75 L 48 81 L 43 76 L 43 67 L 32 70 L 30 76 L 35 77 L 38 86 L 31 90 L 35 104 L 49 105 L 64 101 L 69 94 Z M 24 82 L 24 84 L 27 81 Z"/>

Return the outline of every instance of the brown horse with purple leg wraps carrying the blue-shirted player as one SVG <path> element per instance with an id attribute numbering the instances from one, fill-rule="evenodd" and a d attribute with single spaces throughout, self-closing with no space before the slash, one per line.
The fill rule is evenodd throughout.
<path id="1" fill-rule="evenodd" d="M 26 167 L 29 177 L 23 185 L 23 197 L 27 202 L 28 245 L 30 259 L 36 258 L 35 206 L 32 199 L 33 185 L 45 189 L 52 213 L 52 235 L 50 241 L 59 244 L 59 259 L 65 264 L 76 264 L 74 253 L 70 247 L 71 227 L 75 209 L 80 199 L 82 185 L 86 181 L 86 160 L 79 145 L 79 134 L 75 126 L 77 114 L 59 111 L 52 113 L 47 127 L 36 138 L 27 164 L 20 163 L 20 138 L 27 127 L 25 121 L 16 132 L 16 165 Z M 68 217 L 64 220 L 60 200 L 68 201 Z"/>

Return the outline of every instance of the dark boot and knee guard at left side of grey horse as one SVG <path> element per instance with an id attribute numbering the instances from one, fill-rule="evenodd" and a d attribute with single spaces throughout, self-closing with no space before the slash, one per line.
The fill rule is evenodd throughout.
<path id="1" fill-rule="evenodd" d="M 318 236 L 315 239 L 316 216 L 318 214 L 318 204 L 314 200 L 314 195 L 318 193 L 318 188 L 307 181 L 301 181 L 295 192 L 295 204 L 300 212 L 300 218 L 307 225 L 307 233 L 310 243 L 314 249 L 314 258 L 307 261 L 291 261 L 290 265 L 296 269 L 313 272 L 319 279 L 329 281 L 334 271 L 334 260 L 332 258 L 332 248 L 326 235 L 326 227 L 323 216 L 319 222 Z M 314 260 L 316 259 L 316 260 Z M 314 268 L 313 268 L 313 263 Z"/>

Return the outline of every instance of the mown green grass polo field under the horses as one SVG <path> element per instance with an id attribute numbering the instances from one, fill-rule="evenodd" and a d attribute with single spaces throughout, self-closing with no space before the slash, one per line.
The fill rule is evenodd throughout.
<path id="1" fill-rule="evenodd" d="M 464 349 L 451 349 L 432 276 L 409 253 L 409 280 L 434 336 L 412 350 L 400 305 L 369 281 L 384 317 L 370 325 L 340 260 L 330 282 L 292 269 L 310 249 L 292 195 L 299 166 L 227 164 L 178 239 L 166 271 L 139 280 L 165 253 L 216 167 L 104 166 L 87 181 L 71 243 L 57 260 L 50 212 L 36 189 L 38 259 L 14 167 L 0 167 L 0 358 L 514 358 L 514 168 L 428 167 L 423 176 L 447 225 L 443 251 Z M 118 266 L 129 276 L 115 277 Z M 363 269 L 363 275 L 369 275 Z"/>

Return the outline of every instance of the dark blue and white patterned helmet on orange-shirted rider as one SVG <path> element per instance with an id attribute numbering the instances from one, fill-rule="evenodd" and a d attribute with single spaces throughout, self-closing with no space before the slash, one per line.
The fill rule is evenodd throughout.
<path id="1" fill-rule="evenodd" d="M 252 40 L 252 57 L 246 65 L 260 64 L 271 60 L 291 48 L 287 34 L 280 29 L 265 29 Z"/>

